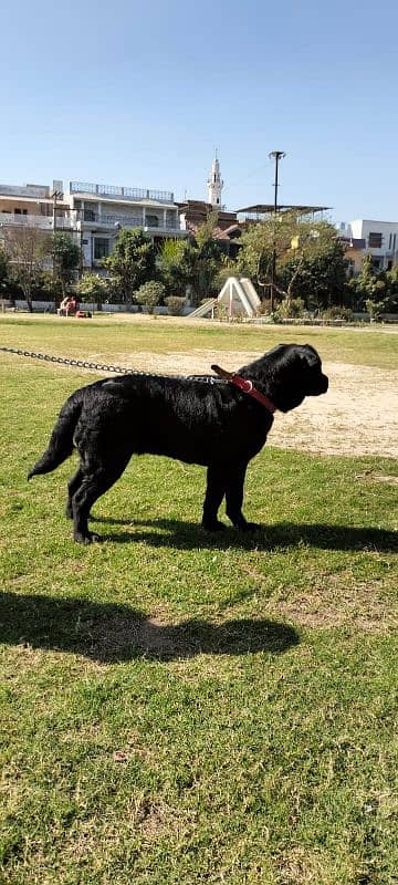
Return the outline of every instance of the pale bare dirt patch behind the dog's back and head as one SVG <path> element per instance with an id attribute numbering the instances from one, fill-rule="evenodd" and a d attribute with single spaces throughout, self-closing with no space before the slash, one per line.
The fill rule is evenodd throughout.
<path id="1" fill-rule="evenodd" d="M 261 354 L 239 354 L 240 365 Z M 132 354 L 116 354 L 115 363 L 132 366 Z M 234 369 L 228 354 L 196 350 L 189 353 L 134 354 L 134 367 L 171 375 L 209 374 L 211 364 Z M 307 398 L 289 415 L 276 414 L 269 436 L 273 446 L 306 449 L 320 455 L 398 457 L 398 371 L 349 363 L 326 363 L 326 396 Z"/>

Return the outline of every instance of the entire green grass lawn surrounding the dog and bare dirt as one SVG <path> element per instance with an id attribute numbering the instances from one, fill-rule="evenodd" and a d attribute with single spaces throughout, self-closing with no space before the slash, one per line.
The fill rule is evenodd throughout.
<path id="1" fill-rule="evenodd" d="M 397 364 L 373 329 L 0 325 L 7 346 L 132 365 L 282 340 Z M 245 504 L 263 529 L 212 539 L 202 468 L 136 458 L 83 548 L 72 464 L 25 476 L 93 375 L 1 353 L 0 372 L 1 885 L 398 882 L 397 464 L 265 447 Z"/>

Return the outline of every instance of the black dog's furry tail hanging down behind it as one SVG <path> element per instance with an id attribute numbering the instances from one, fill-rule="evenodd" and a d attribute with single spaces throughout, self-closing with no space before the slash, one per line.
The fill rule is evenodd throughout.
<path id="1" fill-rule="evenodd" d="M 73 451 L 73 434 L 78 421 L 83 391 L 76 391 L 62 406 L 56 425 L 51 434 L 49 445 L 28 473 L 28 479 L 38 473 L 51 473 L 60 464 L 66 460 Z"/>

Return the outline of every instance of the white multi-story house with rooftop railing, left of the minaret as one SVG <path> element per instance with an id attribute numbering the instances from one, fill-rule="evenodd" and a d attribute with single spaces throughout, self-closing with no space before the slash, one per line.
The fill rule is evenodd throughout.
<path id="1" fill-rule="evenodd" d="M 178 205 L 171 191 L 71 181 L 65 199 L 81 220 L 86 269 L 101 269 L 101 261 L 113 251 L 121 228 L 142 227 L 155 243 L 187 237 L 187 231 L 180 228 Z"/>

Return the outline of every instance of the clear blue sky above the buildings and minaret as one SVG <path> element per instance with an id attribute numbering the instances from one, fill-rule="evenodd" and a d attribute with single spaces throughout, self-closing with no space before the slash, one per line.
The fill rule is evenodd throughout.
<path id="1" fill-rule="evenodd" d="M 53 178 L 398 220 L 398 4 L 7 0 L 0 181 Z"/>

